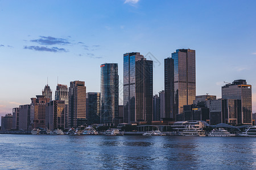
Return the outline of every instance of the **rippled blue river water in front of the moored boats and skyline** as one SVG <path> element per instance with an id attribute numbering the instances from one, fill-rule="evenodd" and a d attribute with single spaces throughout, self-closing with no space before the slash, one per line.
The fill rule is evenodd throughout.
<path id="1" fill-rule="evenodd" d="M 0 134 L 0 169 L 256 169 L 256 138 Z"/>

